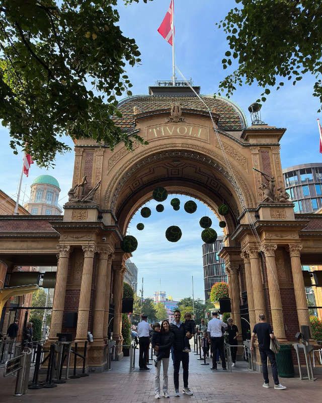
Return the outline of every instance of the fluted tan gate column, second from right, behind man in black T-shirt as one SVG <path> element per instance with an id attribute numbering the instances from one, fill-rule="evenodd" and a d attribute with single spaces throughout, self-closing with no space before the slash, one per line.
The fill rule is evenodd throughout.
<path id="1" fill-rule="evenodd" d="M 285 339 L 285 326 L 283 318 L 282 298 L 278 283 L 278 275 L 275 261 L 277 245 L 264 243 L 263 252 L 266 258 L 268 291 L 270 294 L 271 314 L 274 334 L 279 339 Z"/>

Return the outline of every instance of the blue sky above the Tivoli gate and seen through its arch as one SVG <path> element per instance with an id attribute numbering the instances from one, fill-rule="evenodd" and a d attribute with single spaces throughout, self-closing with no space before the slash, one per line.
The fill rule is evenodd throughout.
<path id="1" fill-rule="evenodd" d="M 134 95 L 147 94 L 148 86 L 153 85 L 156 80 L 171 79 L 171 46 L 157 32 L 157 27 L 163 20 L 169 4 L 170 0 L 154 0 L 147 4 L 141 1 L 139 4 L 125 7 L 123 2 L 119 1 L 121 29 L 125 35 L 136 39 L 141 51 L 141 64 L 128 69 Z M 202 94 L 216 93 L 218 83 L 230 72 L 229 69 L 223 71 L 221 67 L 227 43 L 224 33 L 215 26 L 215 22 L 220 21 L 234 6 L 235 2 L 232 0 L 216 2 L 175 0 L 176 63 L 186 77 L 191 77 L 194 84 L 201 87 Z M 313 83 L 314 80 L 309 75 L 295 87 L 287 83 L 281 90 L 272 91 L 262 107 L 262 119 L 266 123 L 287 128 L 281 140 L 283 168 L 321 161 L 321 154 L 318 153 L 316 118 L 322 116 L 317 115 L 318 100 L 311 95 Z M 261 92 L 256 84 L 251 87 L 244 86 L 237 89 L 232 100 L 246 112 L 249 119 L 247 108 L 256 101 Z M 9 148 L 9 132 L 3 126 L 0 128 L 0 135 L 2 139 L 0 188 L 15 198 L 21 172 L 21 156 L 12 154 Z M 72 142 L 69 139 L 66 141 L 72 147 Z M 24 177 L 23 181 L 22 190 L 26 189 L 25 201 L 29 197 L 33 179 L 42 173 L 57 178 L 61 187 L 60 204 L 67 201 L 67 191 L 72 179 L 73 153 L 58 155 L 55 163 L 55 169 L 48 171 L 32 166 L 29 178 Z M 174 218 L 172 216 L 166 218 L 165 213 L 153 214 L 149 221 L 146 220 L 148 223 L 146 229 L 152 231 L 150 233 L 153 233 L 154 241 L 151 240 L 152 237 L 145 238 L 144 234 L 147 231 L 137 234 L 135 227 L 139 221 L 136 216 L 133 218 L 130 231 L 137 235 L 140 246 L 134 252 L 132 260 L 139 268 L 139 278 L 144 277 L 145 296 L 152 296 L 159 288 L 159 278 L 161 288 L 174 299 L 189 296 L 193 274 L 195 296 L 203 298 L 202 241 L 197 216 L 199 217 L 199 211 L 204 209 L 203 205 L 198 206 L 198 214 L 193 215 L 183 214 L 182 209 L 180 212 L 174 212 L 176 213 Z M 180 221 L 182 224 L 184 235 L 176 244 L 163 242 L 169 220 Z M 158 240 L 159 242 L 155 242 Z"/>

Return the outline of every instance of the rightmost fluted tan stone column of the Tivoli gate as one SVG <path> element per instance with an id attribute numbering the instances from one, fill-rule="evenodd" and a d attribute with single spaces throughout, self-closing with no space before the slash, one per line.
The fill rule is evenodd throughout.
<path id="1" fill-rule="evenodd" d="M 297 310 L 298 324 L 300 327 L 301 325 L 308 325 L 308 326 L 310 325 L 304 279 L 302 275 L 301 259 L 300 259 L 301 249 L 302 245 L 300 244 L 289 245 L 296 310 Z"/>

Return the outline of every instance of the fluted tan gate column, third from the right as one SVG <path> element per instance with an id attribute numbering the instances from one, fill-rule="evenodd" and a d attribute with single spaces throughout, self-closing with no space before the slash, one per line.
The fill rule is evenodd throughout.
<path id="1" fill-rule="evenodd" d="M 260 313 L 264 314 L 266 313 L 260 256 L 258 248 L 256 246 L 249 246 L 246 249 L 246 252 L 250 256 L 251 277 L 253 287 L 251 290 L 253 290 L 255 321 L 257 321 Z"/>

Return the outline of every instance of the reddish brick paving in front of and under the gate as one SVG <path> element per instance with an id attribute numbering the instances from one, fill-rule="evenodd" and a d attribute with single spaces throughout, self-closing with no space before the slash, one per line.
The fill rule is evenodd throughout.
<path id="1" fill-rule="evenodd" d="M 239 363 L 233 372 L 200 365 L 197 356 L 190 354 L 189 386 L 193 396 L 174 396 L 173 368 L 169 373 L 169 403 L 175 401 L 191 403 L 300 403 L 322 401 L 322 376 L 315 382 L 300 381 L 297 378 L 281 378 L 287 390 L 265 389 L 262 375 L 249 372 L 244 363 Z M 210 362 L 210 360 L 208 361 Z M 128 372 L 129 361 L 112 362 L 112 371 L 90 374 L 89 377 L 70 379 L 53 389 L 28 390 L 21 397 L 13 396 L 14 382 L 11 377 L 3 378 L 0 373 L 0 401 L 6 403 L 148 403 L 156 401 L 153 391 L 153 366 L 149 372 Z M 220 364 L 218 365 L 218 368 Z M 272 382 L 273 383 L 273 382 Z M 182 374 L 180 375 L 182 386 Z M 165 401 L 164 398 L 163 400 Z"/>

